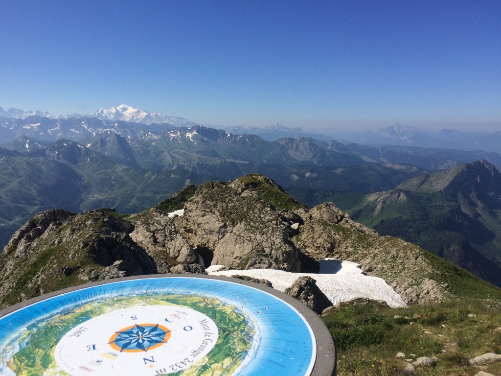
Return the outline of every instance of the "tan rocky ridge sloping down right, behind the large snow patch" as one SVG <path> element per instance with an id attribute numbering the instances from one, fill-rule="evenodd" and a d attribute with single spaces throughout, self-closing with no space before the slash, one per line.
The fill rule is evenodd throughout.
<path id="1" fill-rule="evenodd" d="M 365 274 L 385 279 L 407 304 L 435 303 L 451 296 L 446 286 L 428 277 L 433 267 L 418 247 L 378 236 L 333 203 L 305 210 L 302 218 L 304 226 L 293 241 L 307 257 L 356 262 Z"/>

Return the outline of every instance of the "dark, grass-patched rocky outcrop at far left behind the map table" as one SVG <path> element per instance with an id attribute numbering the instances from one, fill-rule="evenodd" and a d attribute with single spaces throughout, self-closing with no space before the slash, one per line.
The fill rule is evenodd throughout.
<path id="1" fill-rule="evenodd" d="M 68 276 L 74 273 L 81 283 L 157 273 L 123 219 L 110 210 L 39 213 L 16 239 L 0 257 L 0 307 L 73 286 Z M 21 288 L 20 276 L 26 280 Z"/>

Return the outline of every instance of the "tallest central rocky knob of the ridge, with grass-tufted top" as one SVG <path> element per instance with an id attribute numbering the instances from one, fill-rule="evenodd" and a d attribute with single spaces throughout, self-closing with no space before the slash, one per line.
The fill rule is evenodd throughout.
<path id="1" fill-rule="evenodd" d="M 283 217 L 245 186 L 239 179 L 199 186 L 176 219 L 179 233 L 211 253 L 212 264 L 299 271 L 298 252 Z"/>

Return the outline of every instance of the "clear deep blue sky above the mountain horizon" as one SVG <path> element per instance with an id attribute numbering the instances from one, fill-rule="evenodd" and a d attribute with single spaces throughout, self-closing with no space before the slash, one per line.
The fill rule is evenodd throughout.
<path id="1" fill-rule="evenodd" d="M 0 0 L 0 106 L 501 129 L 501 1 Z"/>

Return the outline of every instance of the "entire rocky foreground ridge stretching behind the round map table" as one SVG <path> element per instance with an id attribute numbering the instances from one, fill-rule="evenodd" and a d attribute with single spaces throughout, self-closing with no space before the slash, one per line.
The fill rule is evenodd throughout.
<path id="1" fill-rule="evenodd" d="M 359 263 L 408 304 L 460 293 L 457 273 L 481 283 L 413 244 L 379 236 L 333 203 L 309 209 L 273 180 L 249 174 L 188 185 L 134 215 L 113 209 L 37 214 L 0 254 L 0 307 L 96 280 L 205 273 L 216 264 L 318 273 L 324 258 Z"/>

